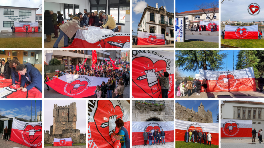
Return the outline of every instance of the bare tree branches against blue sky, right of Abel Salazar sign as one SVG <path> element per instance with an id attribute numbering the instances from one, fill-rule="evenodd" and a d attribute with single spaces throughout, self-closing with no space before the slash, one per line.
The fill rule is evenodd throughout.
<path id="1" fill-rule="evenodd" d="M 213 1 L 211 3 L 201 3 L 200 5 L 194 5 L 194 10 L 201 10 L 201 12 L 205 13 L 205 15 L 210 18 L 211 20 L 215 16 L 215 11 L 218 8 L 219 1 Z M 209 11 L 213 12 L 210 17 L 207 15 L 208 12 L 205 9 L 209 9 Z"/>

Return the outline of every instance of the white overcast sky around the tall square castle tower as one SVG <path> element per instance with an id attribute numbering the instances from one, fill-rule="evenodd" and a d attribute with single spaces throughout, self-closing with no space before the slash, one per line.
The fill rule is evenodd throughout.
<path id="1" fill-rule="evenodd" d="M 80 129 L 81 134 L 86 133 L 86 101 L 85 100 L 45 100 L 44 101 L 44 130 L 50 131 L 50 126 L 53 125 L 53 105 L 58 106 L 68 106 L 71 103 L 76 103 L 77 108 L 77 121 L 76 121 L 76 129 Z"/>

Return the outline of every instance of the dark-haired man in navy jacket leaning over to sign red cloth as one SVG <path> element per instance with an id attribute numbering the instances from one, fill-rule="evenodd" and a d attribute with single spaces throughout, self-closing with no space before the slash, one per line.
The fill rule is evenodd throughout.
<path id="1" fill-rule="evenodd" d="M 28 91 L 35 87 L 42 93 L 42 76 L 39 70 L 27 63 L 17 65 L 16 71 L 21 75 L 21 87 L 17 90 Z M 25 84 L 28 84 L 28 86 L 24 88 Z"/>

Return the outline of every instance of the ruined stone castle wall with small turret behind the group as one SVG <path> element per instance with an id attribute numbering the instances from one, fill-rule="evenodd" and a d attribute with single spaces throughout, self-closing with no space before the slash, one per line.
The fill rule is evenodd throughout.
<path id="1" fill-rule="evenodd" d="M 198 107 L 198 112 L 175 103 L 175 115 L 175 119 L 182 121 L 188 121 L 188 118 L 190 118 L 192 122 L 213 123 L 212 112 L 209 109 L 206 112 L 202 102 Z"/>

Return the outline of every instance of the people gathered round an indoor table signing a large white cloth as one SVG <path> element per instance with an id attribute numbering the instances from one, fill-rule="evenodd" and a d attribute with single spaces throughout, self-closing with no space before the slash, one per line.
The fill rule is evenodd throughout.
<path id="1" fill-rule="evenodd" d="M 57 11 L 58 15 L 52 10 L 44 12 L 44 34 L 46 34 L 47 42 L 51 41 L 51 34 L 54 33 L 54 39 L 58 38 L 53 45 L 53 48 L 58 48 L 59 41 L 64 36 L 64 47 L 68 47 L 70 39 L 74 40 L 78 29 L 87 30 L 90 26 L 100 27 L 100 29 L 110 29 L 118 32 L 116 21 L 111 15 L 104 11 L 88 12 L 84 9 L 84 14 L 79 12 L 76 15 L 69 15 L 69 20 L 64 22 L 63 14 Z M 58 26 L 59 24 L 59 26 Z M 58 29 L 60 34 L 58 35 Z"/>

